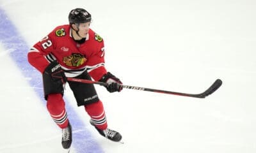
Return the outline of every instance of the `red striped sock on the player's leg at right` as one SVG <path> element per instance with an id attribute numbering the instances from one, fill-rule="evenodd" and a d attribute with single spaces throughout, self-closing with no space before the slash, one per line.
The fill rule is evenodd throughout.
<path id="1" fill-rule="evenodd" d="M 90 115 L 94 125 L 101 130 L 108 128 L 104 107 L 101 101 L 84 106 L 88 115 Z"/>

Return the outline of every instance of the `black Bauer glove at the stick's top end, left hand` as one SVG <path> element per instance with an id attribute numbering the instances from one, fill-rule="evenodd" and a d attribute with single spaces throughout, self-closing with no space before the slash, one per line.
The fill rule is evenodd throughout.
<path id="1" fill-rule="evenodd" d="M 61 69 L 60 64 L 57 61 L 53 61 L 45 68 L 44 75 L 48 75 L 54 82 L 67 82 L 64 71 Z"/>

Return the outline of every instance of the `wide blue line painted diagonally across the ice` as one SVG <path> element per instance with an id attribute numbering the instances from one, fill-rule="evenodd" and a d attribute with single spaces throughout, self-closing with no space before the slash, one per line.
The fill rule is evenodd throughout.
<path id="1" fill-rule="evenodd" d="M 38 94 L 42 103 L 45 105 L 45 100 L 43 97 L 44 92 L 42 90 L 42 76 L 40 72 L 38 72 L 28 63 L 27 53 L 29 47 L 26 44 L 26 41 L 24 41 L 22 36 L 20 36 L 16 27 L 12 24 L 12 21 L 8 18 L 2 8 L 0 8 L 0 18 L 0 43 L 3 44 L 4 48 L 8 49 L 13 62 L 15 62 L 15 64 L 17 64 L 17 66 L 20 68 L 24 78 L 28 80 L 31 87 L 33 87 L 36 94 Z M 72 146 L 75 148 L 75 150 L 79 153 L 103 152 L 100 145 L 93 140 L 92 135 L 88 130 L 86 130 L 85 125 L 79 119 L 79 116 L 76 114 L 75 110 L 67 100 L 66 109 L 73 131 L 78 131 L 73 133 Z M 61 143 L 59 145 L 61 145 Z"/>

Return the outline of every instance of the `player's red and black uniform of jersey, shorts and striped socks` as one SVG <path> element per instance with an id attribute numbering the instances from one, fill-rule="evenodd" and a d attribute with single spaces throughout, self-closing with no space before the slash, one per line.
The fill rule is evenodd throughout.
<path id="1" fill-rule="evenodd" d="M 78 43 L 72 38 L 70 25 L 56 27 L 44 39 L 36 43 L 28 53 L 28 61 L 42 74 L 45 68 L 53 61 L 57 61 L 66 77 L 85 78 L 99 81 L 107 71 L 104 67 L 104 41 L 100 36 L 89 30 L 84 43 Z M 43 77 L 44 78 L 44 77 Z M 44 82 L 47 86 L 47 82 Z M 92 84 L 68 82 L 74 92 L 77 105 L 86 109 L 92 120 L 97 123 L 99 129 L 106 129 L 107 122 L 102 102 L 97 96 Z M 45 91 L 45 90 L 44 90 Z M 68 125 L 63 92 L 47 91 L 47 109 L 52 119 L 60 126 Z"/>

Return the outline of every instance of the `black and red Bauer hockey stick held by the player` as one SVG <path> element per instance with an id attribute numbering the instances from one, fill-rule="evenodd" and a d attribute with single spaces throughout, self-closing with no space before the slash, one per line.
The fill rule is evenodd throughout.
<path id="1" fill-rule="evenodd" d="M 68 81 L 71 82 L 82 82 L 85 84 L 98 84 L 98 85 L 103 85 L 103 86 L 107 86 L 108 84 L 105 82 L 95 82 L 92 80 L 85 80 L 85 79 L 80 79 L 80 78 L 67 78 Z M 126 89 L 134 89 L 134 90 L 138 90 L 138 91 L 151 91 L 151 92 L 158 92 L 158 93 L 162 93 L 162 94 L 174 94 L 177 96 L 186 96 L 186 97 L 193 97 L 193 98 L 205 98 L 206 96 L 209 96 L 210 94 L 212 94 L 214 91 L 216 91 L 222 84 L 222 81 L 220 79 L 217 79 L 212 85 L 211 87 L 209 87 L 209 89 L 207 89 L 206 91 L 200 93 L 200 94 L 187 94 L 187 93 L 182 93 L 182 92 L 173 92 L 173 91 L 163 91 L 163 90 L 158 90 L 158 89 L 150 89 L 150 88 L 145 88 L 145 87 L 135 87 L 135 86 L 131 86 L 131 85 L 122 85 L 123 88 Z"/>

